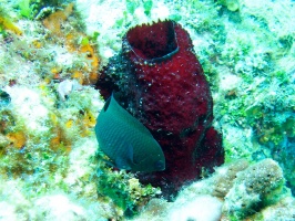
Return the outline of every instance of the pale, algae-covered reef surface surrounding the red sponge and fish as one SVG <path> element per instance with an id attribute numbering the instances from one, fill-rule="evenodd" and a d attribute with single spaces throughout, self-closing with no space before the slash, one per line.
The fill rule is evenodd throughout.
<path id="1" fill-rule="evenodd" d="M 167 20 L 190 35 L 224 149 L 172 198 L 113 169 L 94 133 L 122 39 Z M 0 220 L 295 220 L 294 24 L 292 0 L 0 0 Z"/>

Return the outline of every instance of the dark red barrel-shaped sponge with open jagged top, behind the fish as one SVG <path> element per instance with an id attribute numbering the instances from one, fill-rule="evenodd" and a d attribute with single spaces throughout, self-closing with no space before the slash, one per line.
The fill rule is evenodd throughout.
<path id="1" fill-rule="evenodd" d="M 187 32 L 176 22 L 128 31 L 122 57 L 110 63 L 95 86 L 146 126 L 162 147 L 165 171 L 140 175 L 167 196 L 224 160 L 221 135 L 211 126 L 213 102 Z M 122 66 L 123 76 L 114 66 Z M 113 71 L 115 70 L 115 72 Z"/>

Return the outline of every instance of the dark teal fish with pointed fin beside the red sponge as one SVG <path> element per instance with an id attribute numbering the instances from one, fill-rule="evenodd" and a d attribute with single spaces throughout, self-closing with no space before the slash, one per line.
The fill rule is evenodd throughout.
<path id="1" fill-rule="evenodd" d="M 98 116 L 95 134 L 100 149 L 114 167 L 144 172 L 165 169 L 165 157 L 157 141 L 113 95 Z"/>

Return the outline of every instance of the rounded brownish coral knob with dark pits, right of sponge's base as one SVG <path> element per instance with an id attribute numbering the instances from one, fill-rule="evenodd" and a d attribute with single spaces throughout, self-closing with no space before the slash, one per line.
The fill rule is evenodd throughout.
<path id="1" fill-rule="evenodd" d="M 226 193 L 223 210 L 243 219 L 279 200 L 285 183 L 283 170 L 272 159 L 264 159 L 240 172 Z"/>

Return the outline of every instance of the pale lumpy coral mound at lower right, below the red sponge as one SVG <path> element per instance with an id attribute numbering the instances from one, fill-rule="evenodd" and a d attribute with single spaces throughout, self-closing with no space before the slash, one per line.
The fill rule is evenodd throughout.
<path id="1" fill-rule="evenodd" d="M 228 210 L 241 201 L 245 206 Z M 151 200 L 136 220 L 293 220 L 294 203 L 277 162 L 265 159 L 248 166 L 242 159 L 183 188 L 174 202 Z"/>

